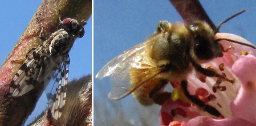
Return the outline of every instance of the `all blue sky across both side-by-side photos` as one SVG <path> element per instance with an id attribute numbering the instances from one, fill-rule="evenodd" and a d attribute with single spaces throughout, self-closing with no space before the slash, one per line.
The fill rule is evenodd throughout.
<path id="1" fill-rule="evenodd" d="M 240 35 L 248 41 L 256 44 L 256 1 L 250 0 L 200 0 L 211 20 L 218 25 L 224 19 L 242 9 L 246 12 L 223 24 L 220 32 Z M 41 0 L 24 1 L 0 1 L 0 63 L 3 63 L 20 35 L 27 27 L 29 21 L 36 12 Z M 143 42 L 152 34 L 160 20 L 171 23 L 183 19 L 172 7 L 169 0 L 94 0 L 94 73 L 95 76 L 100 69 L 118 54 L 132 46 Z M 70 51 L 70 73 L 69 79 L 87 75 L 92 72 L 92 18 L 85 26 L 85 36 L 78 38 Z M 14 33 L 14 34 L 13 34 Z M 137 111 L 143 111 L 148 107 L 140 106 L 134 98 L 129 95 L 120 101 L 108 99 L 107 94 L 112 86 L 109 78 L 103 80 L 94 79 L 94 103 L 104 104 L 110 111 L 110 115 L 102 111 L 94 111 L 94 120 L 101 122 L 106 118 L 114 118 L 120 109 L 126 121 L 135 120 L 139 123 Z M 37 106 L 35 112 L 28 118 L 31 121 L 46 107 L 47 99 L 42 95 L 42 103 L 45 106 Z M 95 104 L 94 104 L 95 107 Z M 102 106 L 101 106 L 102 107 Z M 155 106 L 158 109 L 158 106 Z M 42 108 L 42 109 L 39 109 Z M 155 112 L 155 113 L 154 113 Z M 158 111 L 151 114 L 158 116 Z M 95 123 L 96 124 L 96 123 Z M 138 124 L 141 125 L 141 124 Z M 152 125 L 158 125 L 158 119 Z"/>

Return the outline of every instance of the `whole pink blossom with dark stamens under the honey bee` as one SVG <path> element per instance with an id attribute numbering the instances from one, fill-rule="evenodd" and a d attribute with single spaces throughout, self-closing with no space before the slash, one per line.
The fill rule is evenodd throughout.
<path id="1" fill-rule="evenodd" d="M 250 44 L 234 34 L 217 33 L 216 38 L 229 38 Z M 256 126 L 256 50 L 228 41 L 220 43 L 224 50 L 230 46 L 233 46 L 233 49 L 225 52 L 223 57 L 215 58 L 201 66 L 213 69 L 221 75 L 224 73 L 229 81 L 193 71 L 187 82 L 191 95 L 197 95 L 207 105 L 215 107 L 224 118 L 203 111 L 184 97 L 179 86 L 174 86 L 172 99 L 167 100 L 160 111 L 161 125 Z M 220 64 L 223 64 L 223 67 Z M 213 88 L 217 83 L 219 85 Z"/>

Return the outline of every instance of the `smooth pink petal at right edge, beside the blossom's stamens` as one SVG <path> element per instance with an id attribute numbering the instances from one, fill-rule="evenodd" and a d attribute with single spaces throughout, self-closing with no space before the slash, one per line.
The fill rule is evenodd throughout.
<path id="1" fill-rule="evenodd" d="M 240 56 L 232 71 L 241 81 L 236 99 L 230 105 L 232 115 L 256 123 L 256 57 Z"/>

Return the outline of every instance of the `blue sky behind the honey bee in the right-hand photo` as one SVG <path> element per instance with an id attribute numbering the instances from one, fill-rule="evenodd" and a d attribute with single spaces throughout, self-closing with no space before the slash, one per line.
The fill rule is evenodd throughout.
<path id="1" fill-rule="evenodd" d="M 203 8 L 217 26 L 229 16 L 247 9 L 243 14 L 224 23 L 220 32 L 237 34 L 246 38 L 254 45 L 256 29 L 256 1 L 250 0 L 199 0 Z M 157 27 L 160 20 L 171 23 L 183 22 L 169 0 L 95 0 L 94 1 L 94 63 L 95 76 L 108 61 L 118 54 L 145 41 Z M 112 101 L 107 95 L 112 83 L 109 77 L 102 80 L 94 79 L 94 124 L 101 124 L 115 115 L 120 115 L 126 122 L 134 121 L 136 126 L 141 126 L 138 111 L 144 111 L 148 107 L 139 105 L 132 95 L 120 101 Z M 106 107 L 104 107 L 106 106 Z M 107 108 L 107 110 L 104 110 Z M 159 110 L 159 106 L 154 109 Z M 106 112 L 107 111 L 107 112 Z M 155 112 L 155 113 L 154 113 Z M 158 117 L 158 111 L 150 113 Z M 142 116 L 148 116 L 146 114 Z M 148 120 L 150 122 L 151 118 Z M 117 122 L 113 122 L 118 124 Z M 106 123 L 110 125 L 110 123 Z M 159 125 L 158 118 L 148 126 Z"/>

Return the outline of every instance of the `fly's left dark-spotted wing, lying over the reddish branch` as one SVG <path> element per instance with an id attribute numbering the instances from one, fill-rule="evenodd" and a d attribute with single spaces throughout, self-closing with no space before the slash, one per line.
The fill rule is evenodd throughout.
<path id="1" fill-rule="evenodd" d="M 44 80 L 44 78 L 41 78 L 41 76 L 44 76 L 42 66 L 49 63 L 48 46 L 49 42 L 46 41 L 27 53 L 26 60 L 10 84 L 12 96 L 24 95 Z"/>

